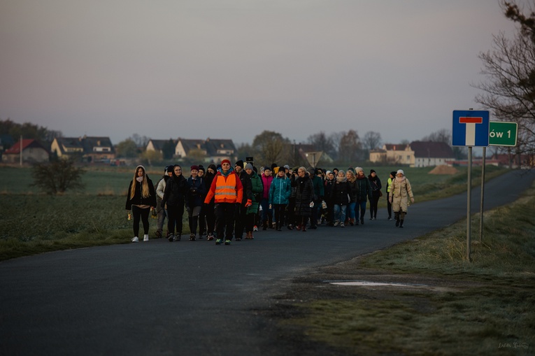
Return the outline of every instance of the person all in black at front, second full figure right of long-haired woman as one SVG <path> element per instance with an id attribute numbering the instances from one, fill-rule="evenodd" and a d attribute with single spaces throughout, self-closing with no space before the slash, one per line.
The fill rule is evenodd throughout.
<path id="1" fill-rule="evenodd" d="M 187 193 L 187 180 L 182 173 L 182 167 L 173 166 L 173 175 L 165 185 L 162 204 L 167 204 L 167 238 L 169 242 L 180 241 L 182 236 L 182 219 Z M 176 227 L 176 234 L 175 234 Z"/>

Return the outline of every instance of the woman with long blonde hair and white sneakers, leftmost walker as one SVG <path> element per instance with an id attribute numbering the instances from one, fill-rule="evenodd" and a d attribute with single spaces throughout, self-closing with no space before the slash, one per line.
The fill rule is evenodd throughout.
<path id="1" fill-rule="evenodd" d="M 151 208 L 156 208 L 156 192 L 144 166 L 137 166 L 134 170 L 134 178 L 128 186 L 126 208 L 127 211 L 132 211 L 134 218 L 134 238 L 131 241 L 139 241 L 140 220 L 143 222 L 143 241 L 148 241 L 148 215 Z"/>

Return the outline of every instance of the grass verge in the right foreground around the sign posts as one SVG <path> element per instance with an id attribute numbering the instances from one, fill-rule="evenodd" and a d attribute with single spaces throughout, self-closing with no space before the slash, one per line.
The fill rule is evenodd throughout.
<path id="1" fill-rule="evenodd" d="M 283 298 L 303 302 L 292 303 L 281 334 L 300 328 L 298 337 L 327 343 L 336 355 L 535 355 L 533 206 L 535 187 L 485 213 L 483 243 L 472 244 L 472 262 L 464 220 L 325 267 Z M 476 234 L 477 215 L 474 225 Z M 320 288 L 322 276 L 420 287 Z"/>

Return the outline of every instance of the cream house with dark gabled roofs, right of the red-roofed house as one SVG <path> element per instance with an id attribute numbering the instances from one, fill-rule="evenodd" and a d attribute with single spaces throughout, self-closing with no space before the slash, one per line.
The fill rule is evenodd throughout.
<path id="1" fill-rule="evenodd" d="M 115 148 L 109 137 L 58 137 L 52 141 L 50 150 L 57 157 L 80 157 L 83 162 L 108 163 L 115 159 Z"/>

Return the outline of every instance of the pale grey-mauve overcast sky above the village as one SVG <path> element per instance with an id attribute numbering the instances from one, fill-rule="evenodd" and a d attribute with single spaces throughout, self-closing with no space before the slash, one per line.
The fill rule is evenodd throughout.
<path id="1" fill-rule="evenodd" d="M 498 0 L 0 0 L 0 118 L 115 144 L 414 141 L 480 108 L 499 31 Z"/>

